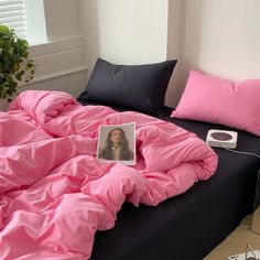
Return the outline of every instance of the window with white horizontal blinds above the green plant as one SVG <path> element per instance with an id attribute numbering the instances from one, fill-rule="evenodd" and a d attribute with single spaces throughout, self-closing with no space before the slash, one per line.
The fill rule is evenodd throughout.
<path id="1" fill-rule="evenodd" d="M 26 37 L 24 0 L 0 0 L 0 24 L 13 28 L 20 37 Z"/>

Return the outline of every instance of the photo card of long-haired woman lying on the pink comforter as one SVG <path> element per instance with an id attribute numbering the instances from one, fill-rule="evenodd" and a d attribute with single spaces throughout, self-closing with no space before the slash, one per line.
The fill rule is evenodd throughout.
<path id="1" fill-rule="evenodd" d="M 136 165 L 136 122 L 101 126 L 98 133 L 97 158 Z"/>

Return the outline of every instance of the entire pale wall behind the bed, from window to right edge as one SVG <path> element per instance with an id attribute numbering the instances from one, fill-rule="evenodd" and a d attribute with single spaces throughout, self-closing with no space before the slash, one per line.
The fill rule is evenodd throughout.
<path id="1" fill-rule="evenodd" d="M 44 0 L 48 47 L 34 47 L 35 83 L 77 96 L 98 56 L 118 64 L 177 58 L 166 93 L 176 106 L 188 69 L 260 77 L 259 0 Z M 86 48 L 85 48 L 86 44 Z"/>

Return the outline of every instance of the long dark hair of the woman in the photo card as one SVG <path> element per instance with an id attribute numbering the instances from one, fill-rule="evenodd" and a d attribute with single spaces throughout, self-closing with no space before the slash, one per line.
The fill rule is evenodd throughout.
<path id="1" fill-rule="evenodd" d="M 120 139 L 120 161 L 130 161 L 133 160 L 133 152 L 129 149 L 128 139 L 126 137 L 126 132 L 121 128 L 113 128 L 109 131 L 107 139 L 105 141 L 105 148 L 99 152 L 99 158 L 107 159 L 107 160 L 115 160 L 113 158 L 113 142 L 111 140 L 113 131 L 120 131 L 121 139 Z"/>

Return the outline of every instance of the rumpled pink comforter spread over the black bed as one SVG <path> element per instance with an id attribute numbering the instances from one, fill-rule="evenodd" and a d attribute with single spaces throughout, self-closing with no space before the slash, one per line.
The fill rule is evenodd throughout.
<path id="1" fill-rule="evenodd" d="M 132 121 L 137 165 L 96 160 L 99 126 Z M 204 141 L 172 123 L 24 91 L 0 112 L 0 259 L 89 259 L 126 199 L 155 206 L 216 166 Z"/>

